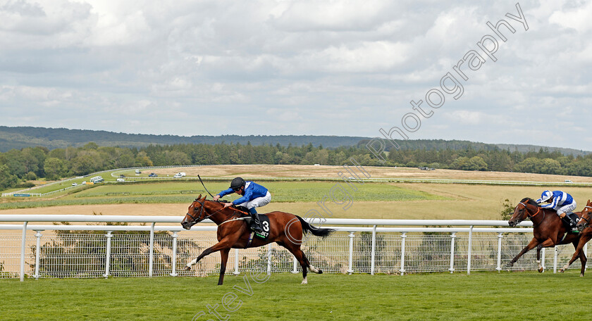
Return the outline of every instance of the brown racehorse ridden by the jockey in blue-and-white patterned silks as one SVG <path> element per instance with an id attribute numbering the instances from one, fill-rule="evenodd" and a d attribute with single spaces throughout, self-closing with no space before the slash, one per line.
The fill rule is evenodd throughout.
<path id="1" fill-rule="evenodd" d="M 576 214 L 581 216 L 581 213 Z M 574 248 L 576 248 L 576 252 L 574 253 L 574 256 L 572 256 L 572 259 L 569 260 L 569 263 L 560 269 L 560 272 L 565 272 L 567 267 L 579 257 L 581 262 L 580 276 L 583 277 L 584 270 L 586 269 L 586 255 L 579 247 L 581 233 L 569 233 L 568 229 L 563 225 L 561 218 L 557 216 L 555 210 L 541 208 L 536 201 L 529 199 L 528 197 L 522 199 L 516 208 L 514 208 L 514 214 L 508 221 L 508 224 L 511 227 L 514 227 L 526 218 L 529 218 L 533 224 L 534 237 L 531 239 L 529 245 L 523 248 L 515 258 L 512 258 L 506 266 L 512 267 L 519 257 L 536 246 L 536 263 L 538 264 L 538 272 L 543 272 L 543 265 L 541 265 L 541 248 L 572 243 L 574 244 Z M 584 243 L 581 244 L 582 247 L 586 241 L 588 240 L 584 240 Z"/>

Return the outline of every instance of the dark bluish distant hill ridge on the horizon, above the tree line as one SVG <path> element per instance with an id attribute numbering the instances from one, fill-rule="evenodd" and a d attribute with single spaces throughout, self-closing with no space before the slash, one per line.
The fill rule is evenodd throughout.
<path id="1" fill-rule="evenodd" d="M 282 146 L 302 146 L 312 144 L 322 145 L 326 148 L 340 146 L 364 146 L 371 137 L 348 137 L 348 136 L 313 136 L 313 135 L 222 135 L 222 136 L 175 136 L 175 135 L 153 135 L 153 134 L 125 134 L 123 132 L 106 132 L 104 130 L 68 130 L 66 128 L 45 128 L 45 127 L 7 127 L 0 126 L 0 152 L 11 149 L 23 149 L 25 147 L 44 146 L 48 149 L 63 149 L 67 146 L 84 146 L 93 141 L 99 146 L 121 146 L 121 147 L 142 147 L 154 145 L 174 144 L 247 144 L 263 145 L 280 144 Z M 545 147 L 535 145 L 517 144 L 484 144 L 473 141 L 460 141 L 443 139 L 416 139 L 398 141 L 402 149 L 509 149 L 510 151 L 538 151 L 548 149 L 549 151 L 560 151 L 565 155 L 584 156 L 592 151 L 579 151 L 576 149 L 563 149 L 557 147 Z"/>

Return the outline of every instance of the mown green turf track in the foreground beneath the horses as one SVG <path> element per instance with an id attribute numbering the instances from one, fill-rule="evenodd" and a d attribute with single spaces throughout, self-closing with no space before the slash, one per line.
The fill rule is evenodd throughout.
<path id="1" fill-rule="evenodd" d="M 242 275 L 124 279 L 0 280 L 2 320 L 192 320 L 218 304 L 230 320 L 587 320 L 579 272 L 481 272 L 471 275 L 271 275 L 263 283 Z M 228 312 L 232 292 L 238 307 Z M 232 296 L 233 294 L 228 294 Z M 227 297 L 228 298 L 228 297 Z M 229 305 L 229 306 L 233 306 Z M 214 315 L 197 320 L 218 320 Z"/>

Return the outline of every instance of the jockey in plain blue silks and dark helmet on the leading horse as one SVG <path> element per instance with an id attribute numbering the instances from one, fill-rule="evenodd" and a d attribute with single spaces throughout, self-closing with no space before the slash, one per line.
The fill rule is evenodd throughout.
<path id="1" fill-rule="evenodd" d="M 228 206 L 245 206 L 249 209 L 251 218 L 254 220 L 256 227 L 255 232 L 263 232 L 261 228 L 261 221 L 259 221 L 259 215 L 257 215 L 257 209 L 261 206 L 266 206 L 271 201 L 271 194 L 269 191 L 261 185 L 254 182 L 245 182 L 241 177 L 236 177 L 230 182 L 230 188 L 225 189 L 214 196 L 214 201 L 218 201 L 221 197 L 228 194 L 239 194 L 242 195 L 239 199 L 235 199 L 232 203 L 224 203 L 224 208 Z"/>

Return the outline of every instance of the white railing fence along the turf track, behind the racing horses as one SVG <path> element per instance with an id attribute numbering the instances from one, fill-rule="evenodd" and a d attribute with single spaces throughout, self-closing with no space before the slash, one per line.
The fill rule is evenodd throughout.
<path id="1" fill-rule="evenodd" d="M 200 263 L 202 265 L 193 274 L 176 270 L 177 266 L 187 263 L 188 258 L 195 258 L 204 248 L 216 243 L 216 238 L 211 235 L 211 231 L 216 230 L 215 225 L 200 223 L 192 227 L 191 232 L 187 232 L 181 228 L 181 220 L 183 217 L 180 216 L 0 215 L 0 222 L 20 222 L 18 225 L 0 225 L 0 230 L 22 230 L 20 239 L 0 234 L 0 277 L 20 276 L 22 281 L 27 258 L 30 260 L 29 274 L 35 278 L 215 274 L 218 256 L 204 258 L 204 263 Z M 376 272 L 403 275 L 406 272 L 467 270 L 467 274 L 470 274 L 471 270 L 500 271 L 504 269 L 502 262 L 510 260 L 522 250 L 532 235 L 532 229 L 529 228 L 532 224 L 529 221 L 522 222 L 520 228 L 509 228 L 507 222 L 502 220 L 328 218 L 308 221 L 317 227 L 338 231 L 326 239 L 309 237 L 304 241 L 304 251 L 314 265 L 324 267 L 325 272 L 364 272 L 371 275 Z M 42 225 L 37 222 L 149 225 Z M 157 226 L 157 223 L 174 225 Z M 28 231 L 35 232 L 34 239 L 27 238 Z M 44 231 L 54 233 L 44 236 Z M 54 235 L 60 231 L 70 231 L 70 234 Z M 73 231 L 94 232 L 73 234 Z M 204 234 L 208 231 L 209 234 Z M 128 233 L 121 234 L 122 232 Z M 142 232 L 143 234 L 138 234 Z M 14 253 L 14 249 L 18 247 L 14 243 L 18 241 L 20 255 Z M 27 245 L 30 253 L 27 253 Z M 76 246 L 83 248 L 83 251 L 74 253 Z M 263 270 L 297 272 L 298 266 L 293 256 L 278 246 L 269 245 L 264 248 L 235 249 L 234 257 L 229 261 L 229 266 L 235 267 L 233 273 L 240 274 L 241 270 L 257 268 L 255 265 L 263 255 L 261 251 L 266 252 L 264 256 L 268 258 L 264 260 L 266 267 Z M 532 257 L 534 251 L 531 252 L 521 258 L 512 270 L 535 270 L 536 263 Z M 278 258 L 271 260 L 273 253 Z M 573 250 L 568 246 L 557 246 L 553 260 L 554 270 L 561 256 L 569 257 L 572 253 Z M 17 256 L 20 259 L 18 273 L 16 269 L 10 268 L 15 264 L 5 262 L 6 259 L 15 260 Z M 93 263 L 87 263 L 89 261 Z M 272 268 L 272 264 L 276 266 Z M 574 263 L 574 268 L 576 265 Z M 94 270 L 89 270 L 90 266 L 94 266 Z"/>

